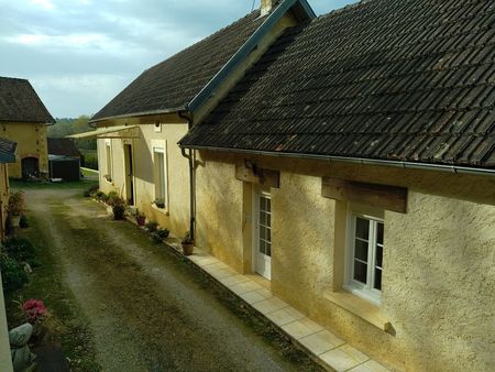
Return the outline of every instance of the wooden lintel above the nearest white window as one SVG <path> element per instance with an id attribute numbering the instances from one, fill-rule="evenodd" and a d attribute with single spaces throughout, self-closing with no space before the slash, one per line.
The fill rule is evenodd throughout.
<path id="1" fill-rule="evenodd" d="M 323 177 L 321 195 L 337 200 L 365 204 L 405 214 L 407 188 Z"/>

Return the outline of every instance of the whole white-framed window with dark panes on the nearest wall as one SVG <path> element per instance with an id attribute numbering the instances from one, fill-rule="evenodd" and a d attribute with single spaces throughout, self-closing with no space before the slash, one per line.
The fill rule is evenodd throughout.
<path id="1" fill-rule="evenodd" d="M 344 288 L 380 305 L 383 272 L 383 219 L 350 211 Z"/>

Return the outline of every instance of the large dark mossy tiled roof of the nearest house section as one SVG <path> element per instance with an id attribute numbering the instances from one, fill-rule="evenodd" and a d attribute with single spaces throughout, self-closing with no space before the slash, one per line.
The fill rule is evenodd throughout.
<path id="1" fill-rule="evenodd" d="M 289 29 L 180 144 L 495 167 L 495 3 L 371 0 Z"/>

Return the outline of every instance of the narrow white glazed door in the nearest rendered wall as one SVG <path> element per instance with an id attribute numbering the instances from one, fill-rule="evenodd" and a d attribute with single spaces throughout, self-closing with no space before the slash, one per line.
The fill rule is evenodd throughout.
<path id="1" fill-rule="evenodd" d="M 268 193 L 254 193 L 254 271 L 272 278 L 272 200 Z"/>

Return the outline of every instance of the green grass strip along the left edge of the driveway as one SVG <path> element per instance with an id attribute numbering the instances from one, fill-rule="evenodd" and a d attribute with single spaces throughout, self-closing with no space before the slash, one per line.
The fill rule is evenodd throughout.
<path id="1" fill-rule="evenodd" d="M 100 371 L 95 359 L 95 346 L 89 331 L 89 321 L 76 303 L 76 298 L 63 280 L 62 266 L 56 261 L 46 237 L 40 231 L 34 219 L 31 228 L 20 236 L 30 239 L 37 249 L 41 265 L 34 267 L 31 282 L 13 293 L 6 293 L 6 308 L 9 329 L 24 322 L 18 302 L 30 298 L 42 299 L 52 316 L 62 325 L 54 341 L 62 346 L 72 371 Z"/>

